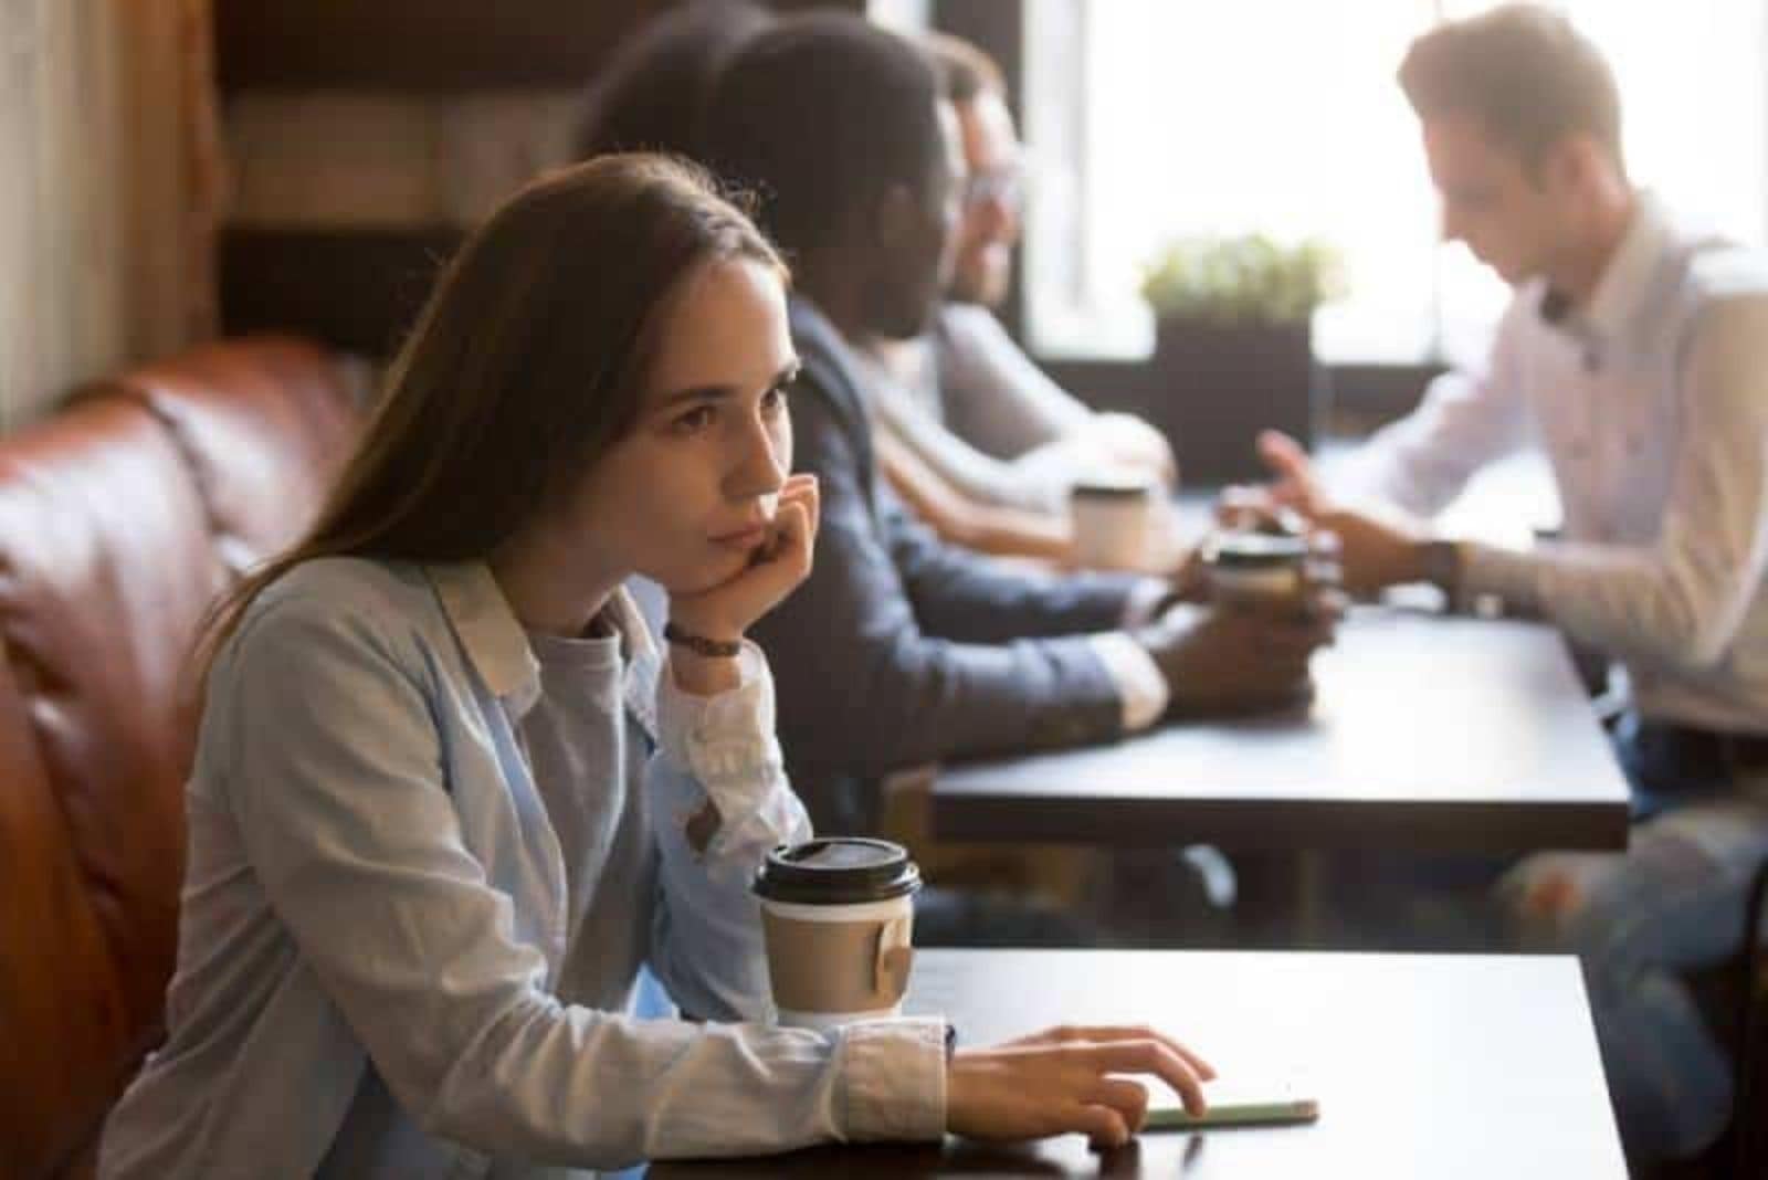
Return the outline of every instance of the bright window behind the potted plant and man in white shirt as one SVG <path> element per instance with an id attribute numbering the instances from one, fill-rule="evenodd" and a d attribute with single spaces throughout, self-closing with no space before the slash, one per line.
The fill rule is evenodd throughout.
<path id="1" fill-rule="evenodd" d="M 1485 2 L 1025 0 L 1025 311 L 1052 357 L 1144 357 L 1139 270 L 1183 233 L 1317 235 L 1349 295 L 1315 320 L 1335 362 L 1460 360 L 1503 284 L 1437 242 L 1406 46 Z M 1740 240 L 1768 228 L 1763 0 L 1558 5 L 1609 57 L 1628 166 Z"/>

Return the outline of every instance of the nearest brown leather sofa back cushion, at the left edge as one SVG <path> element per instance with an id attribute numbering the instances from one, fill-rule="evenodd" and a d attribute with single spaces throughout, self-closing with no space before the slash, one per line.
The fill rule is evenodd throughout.
<path id="1" fill-rule="evenodd" d="M 0 443 L 0 814 L 18 853 L 0 880 L 41 908 L 0 933 L 9 957 L 35 959 L 0 991 L 0 1023 L 7 1070 L 48 1079 L 5 1120 L 41 1120 L 9 1131 L 44 1152 L 90 1132 L 159 1026 L 189 654 L 225 585 L 184 459 L 140 405 L 88 401 Z"/>

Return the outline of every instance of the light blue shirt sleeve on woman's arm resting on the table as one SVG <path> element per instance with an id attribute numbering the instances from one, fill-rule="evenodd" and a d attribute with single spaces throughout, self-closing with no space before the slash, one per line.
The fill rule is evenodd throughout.
<path id="1" fill-rule="evenodd" d="M 635 1021 L 550 995 L 543 956 L 516 934 L 523 915 L 463 843 L 433 715 L 440 687 L 428 680 L 437 664 L 415 645 L 408 629 L 331 602 L 274 602 L 233 641 L 210 700 L 265 896 L 426 1131 L 589 1168 L 898 1127 L 937 1134 L 942 1074 L 914 1021 L 826 1039 Z M 713 740 L 695 760 L 716 763 L 718 749 Z M 732 809 L 714 855 L 801 823 L 776 793 L 758 795 L 748 818 Z M 928 1097 L 873 1111 L 866 1093 L 895 1102 L 898 1092 L 872 1076 L 866 1037 L 893 1039 L 903 1085 Z"/>

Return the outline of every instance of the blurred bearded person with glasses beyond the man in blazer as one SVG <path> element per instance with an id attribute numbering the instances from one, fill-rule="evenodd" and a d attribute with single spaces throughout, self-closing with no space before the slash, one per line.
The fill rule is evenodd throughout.
<path id="1" fill-rule="evenodd" d="M 1087 408 L 1001 327 L 994 311 L 1011 284 L 1025 184 L 1006 85 L 967 41 L 928 34 L 923 44 L 956 113 L 967 178 L 946 300 L 928 330 L 907 341 L 856 341 L 870 369 L 879 466 L 948 541 L 1073 560 L 1073 484 L 1140 477 L 1170 491 L 1172 447 L 1140 419 Z M 1160 519 L 1146 564 L 1170 569 L 1181 546 Z"/>

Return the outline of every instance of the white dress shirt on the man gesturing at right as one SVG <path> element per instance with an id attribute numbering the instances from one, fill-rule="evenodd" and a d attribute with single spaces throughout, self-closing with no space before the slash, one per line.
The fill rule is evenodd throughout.
<path id="1" fill-rule="evenodd" d="M 1768 256 L 1641 194 L 1588 306 L 1554 302 L 1520 286 L 1489 371 L 1439 378 L 1354 482 L 1429 514 L 1536 438 L 1565 535 L 1467 544 L 1462 592 L 1621 659 L 1646 715 L 1768 731 Z"/>

